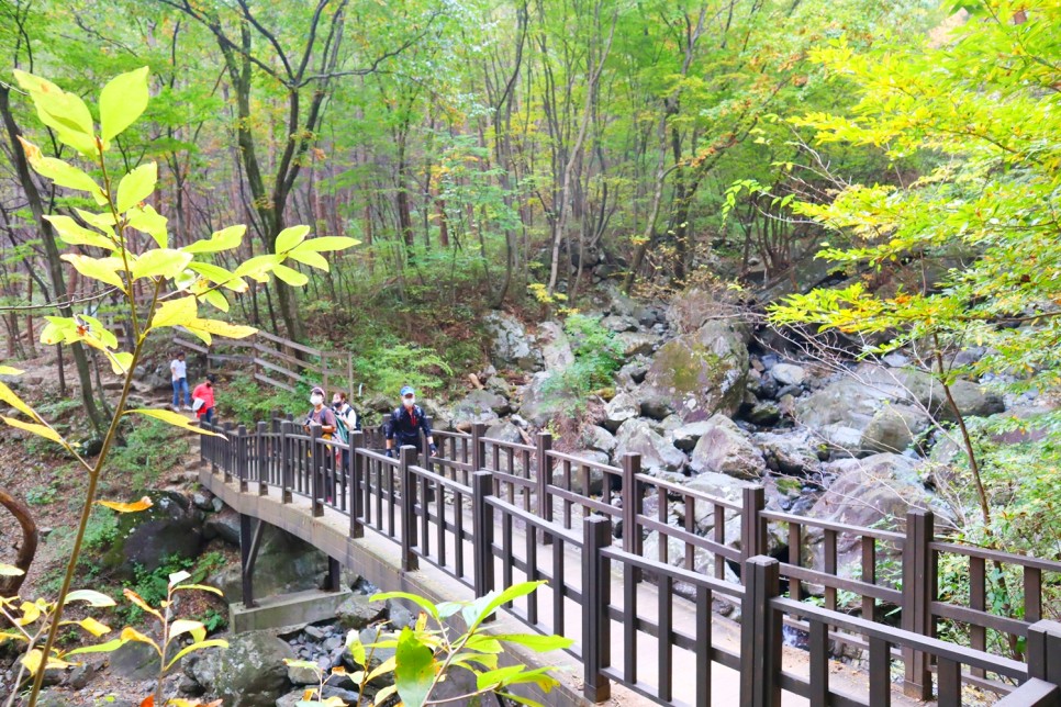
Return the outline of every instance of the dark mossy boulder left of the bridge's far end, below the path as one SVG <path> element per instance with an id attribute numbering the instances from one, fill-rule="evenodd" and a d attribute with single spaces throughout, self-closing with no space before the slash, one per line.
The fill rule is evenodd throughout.
<path id="1" fill-rule="evenodd" d="M 174 557 L 193 559 L 202 549 L 202 512 L 171 491 L 144 495 L 152 507 L 119 514 L 114 540 L 101 557 L 103 568 L 123 579 L 134 579 L 136 565 L 150 572 Z"/>

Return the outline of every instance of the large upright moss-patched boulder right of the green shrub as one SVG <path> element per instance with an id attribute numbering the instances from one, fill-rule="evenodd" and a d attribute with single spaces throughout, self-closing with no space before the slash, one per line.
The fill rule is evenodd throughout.
<path id="1" fill-rule="evenodd" d="M 721 319 L 661 346 L 638 389 L 643 413 L 661 419 L 668 409 L 685 422 L 734 414 L 748 375 L 746 340 L 742 326 Z"/>

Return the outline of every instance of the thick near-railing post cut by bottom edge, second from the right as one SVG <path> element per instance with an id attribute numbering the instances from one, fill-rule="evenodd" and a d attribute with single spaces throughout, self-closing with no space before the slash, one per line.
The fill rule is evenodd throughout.
<path id="1" fill-rule="evenodd" d="M 745 560 L 740 610 L 740 704 L 781 706 L 781 619 L 770 601 L 781 593 L 780 565 L 773 558 Z"/>

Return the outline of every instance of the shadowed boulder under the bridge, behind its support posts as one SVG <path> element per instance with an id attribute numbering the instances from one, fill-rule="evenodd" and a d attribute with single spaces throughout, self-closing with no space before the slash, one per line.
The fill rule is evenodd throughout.
<path id="1" fill-rule="evenodd" d="M 326 571 L 327 556 L 276 526 L 266 525 L 254 568 L 254 588 L 258 596 L 316 588 Z M 243 601 L 238 563 L 223 568 L 205 583 L 221 590 L 226 602 Z"/>

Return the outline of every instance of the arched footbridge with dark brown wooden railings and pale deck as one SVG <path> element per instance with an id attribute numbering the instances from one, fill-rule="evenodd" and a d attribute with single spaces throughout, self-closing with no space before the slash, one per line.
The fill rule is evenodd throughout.
<path id="1" fill-rule="evenodd" d="M 259 529 L 279 523 L 326 552 L 334 588 L 350 543 L 368 541 L 389 543 L 404 572 L 423 564 L 464 585 L 466 596 L 444 598 L 547 581 L 506 608 L 576 640 L 569 653 L 590 703 L 614 684 L 656 704 L 950 706 L 976 689 L 1008 706 L 1061 706 L 1061 624 L 1042 620 L 1043 587 L 1061 582 L 1061 563 L 936 538 L 930 512 L 912 512 L 903 534 L 775 513 L 761 487 L 734 503 L 641 473 L 637 454 L 611 467 L 554 450 L 548 433 L 530 446 L 487 438 L 483 425 L 435 433 L 437 457 L 403 447 L 398 459 L 361 433 L 347 446 L 290 418 L 211 429 L 225 438 L 201 437 L 202 479 L 244 514 L 245 603 L 256 516 Z M 768 530 L 789 538 L 784 557 L 767 557 Z M 808 566 L 801 548 L 812 530 L 823 553 Z M 858 579 L 838 575 L 838 547 L 850 543 Z M 881 570 L 895 557 L 901 577 L 890 580 Z M 941 561 L 968 568 L 967 594 L 940 595 Z M 1007 613 L 989 607 L 999 571 L 1021 595 L 1001 603 Z M 807 601 L 811 588 L 824 602 Z M 860 616 L 837 610 L 840 593 Z M 715 604 L 739 608 L 739 627 L 713 618 Z M 945 624 L 964 628 L 970 647 L 936 638 Z M 806 652 L 783 646 L 783 627 Z M 857 651 L 864 670 L 834 661 L 841 650 Z"/>

